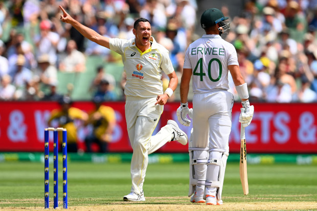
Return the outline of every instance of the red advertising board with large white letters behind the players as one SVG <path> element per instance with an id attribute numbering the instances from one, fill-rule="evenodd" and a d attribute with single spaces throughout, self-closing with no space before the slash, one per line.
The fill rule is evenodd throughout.
<path id="1" fill-rule="evenodd" d="M 131 152 L 126 123 L 124 102 L 111 102 L 116 111 L 117 125 L 113 141 L 109 144 L 111 152 Z M 317 153 L 317 104 L 253 104 L 255 106 L 252 124 L 245 129 L 247 151 L 259 153 Z M 0 102 L 0 151 L 43 151 L 44 128 L 50 112 L 58 108 L 55 102 Z M 75 102 L 74 107 L 84 111 L 93 108 L 90 102 Z M 167 120 L 176 122 L 176 109 L 179 103 L 168 103 L 164 107 L 159 124 L 153 134 L 166 125 Z M 190 105 L 191 107 L 191 105 Z M 232 131 L 230 152 L 239 152 L 240 146 L 240 103 L 232 112 Z M 79 143 L 83 146 L 88 129 L 78 124 Z M 191 127 L 180 125 L 188 136 Z M 51 135 L 51 134 L 50 134 Z M 51 135 L 51 141 L 52 137 Z M 188 146 L 171 142 L 158 152 L 188 152 Z"/>

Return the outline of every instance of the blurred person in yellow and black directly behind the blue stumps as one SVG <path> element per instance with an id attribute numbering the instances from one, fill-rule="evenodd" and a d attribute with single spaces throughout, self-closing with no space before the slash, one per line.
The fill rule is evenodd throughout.
<path id="1" fill-rule="evenodd" d="M 52 121 L 56 120 L 57 127 L 62 127 L 67 130 L 67 152 L 77 152 L 78 151 L 78 137 L 77 137 L 77 127 L 75 120 L 80 120 L 82 122 L 87 121 L 88 115 L 84 111 L 72 106 L 72 100 L 68 96 L 62 96 L 59 99 L 60 108 L 54 109 L 51 112 L 50 119 L 48 120 L 48 125 L 53 127 Z M 56 127 L 56 126 L 54 126 Z M 62 138 L 59 138 L 60 144 Z M 59 147 L 61 150 L 62 148 Z"/>

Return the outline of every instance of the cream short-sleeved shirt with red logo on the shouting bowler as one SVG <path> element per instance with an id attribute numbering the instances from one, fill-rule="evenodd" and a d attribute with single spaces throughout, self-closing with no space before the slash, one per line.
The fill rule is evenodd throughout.
<path id="1" fill-rule="evenodd" d="M 141 52 L 135 46 L 135 39 L 111 38 L 110 50 L 122 56 L 127 83 L 124 94 L 131 97 L 151 98 L 163 93 L 162 71 L 174 72 L 168 50 L 150 38 L 151 48 Z"/>

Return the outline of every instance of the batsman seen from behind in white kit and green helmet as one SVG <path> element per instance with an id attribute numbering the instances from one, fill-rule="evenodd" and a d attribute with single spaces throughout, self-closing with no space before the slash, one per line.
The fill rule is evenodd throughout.
<path id="1" fill-rule="evenodd" d="M 250 125 L 254 107 L 248 101 L 247 85 L 240 72 L 234 46 L 223 40 L 230 22 L 222 12 L 211 8 L 202 13 L 201 27 L 206 35 L 191 43 L 186 51 L 178 121 L 193 130 L 188 143 L 190 156 L 189 194 L 193 203 L 222 204 L 221 192 L 227 158 L 233 95 L 229 90 L 228 74 L 232 75 L 242 101 L 239 122 Z M 192 78 L 193 108 L 188 108 L 188 91 Z"/>

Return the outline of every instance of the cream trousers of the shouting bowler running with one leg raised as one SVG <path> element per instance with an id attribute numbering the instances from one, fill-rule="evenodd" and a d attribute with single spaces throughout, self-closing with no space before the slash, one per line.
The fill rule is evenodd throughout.
<path id="1" fill-rule="evenodd" d="M 131 159 L 131 192 L 140 194 L 148 165 L 148 155 L 172 139 L 173 129 L 166 125 L 152 136 L 164 106 L 154 105 L 156 98 L 127 97 L 125 119 L 133 149 Z"/>

